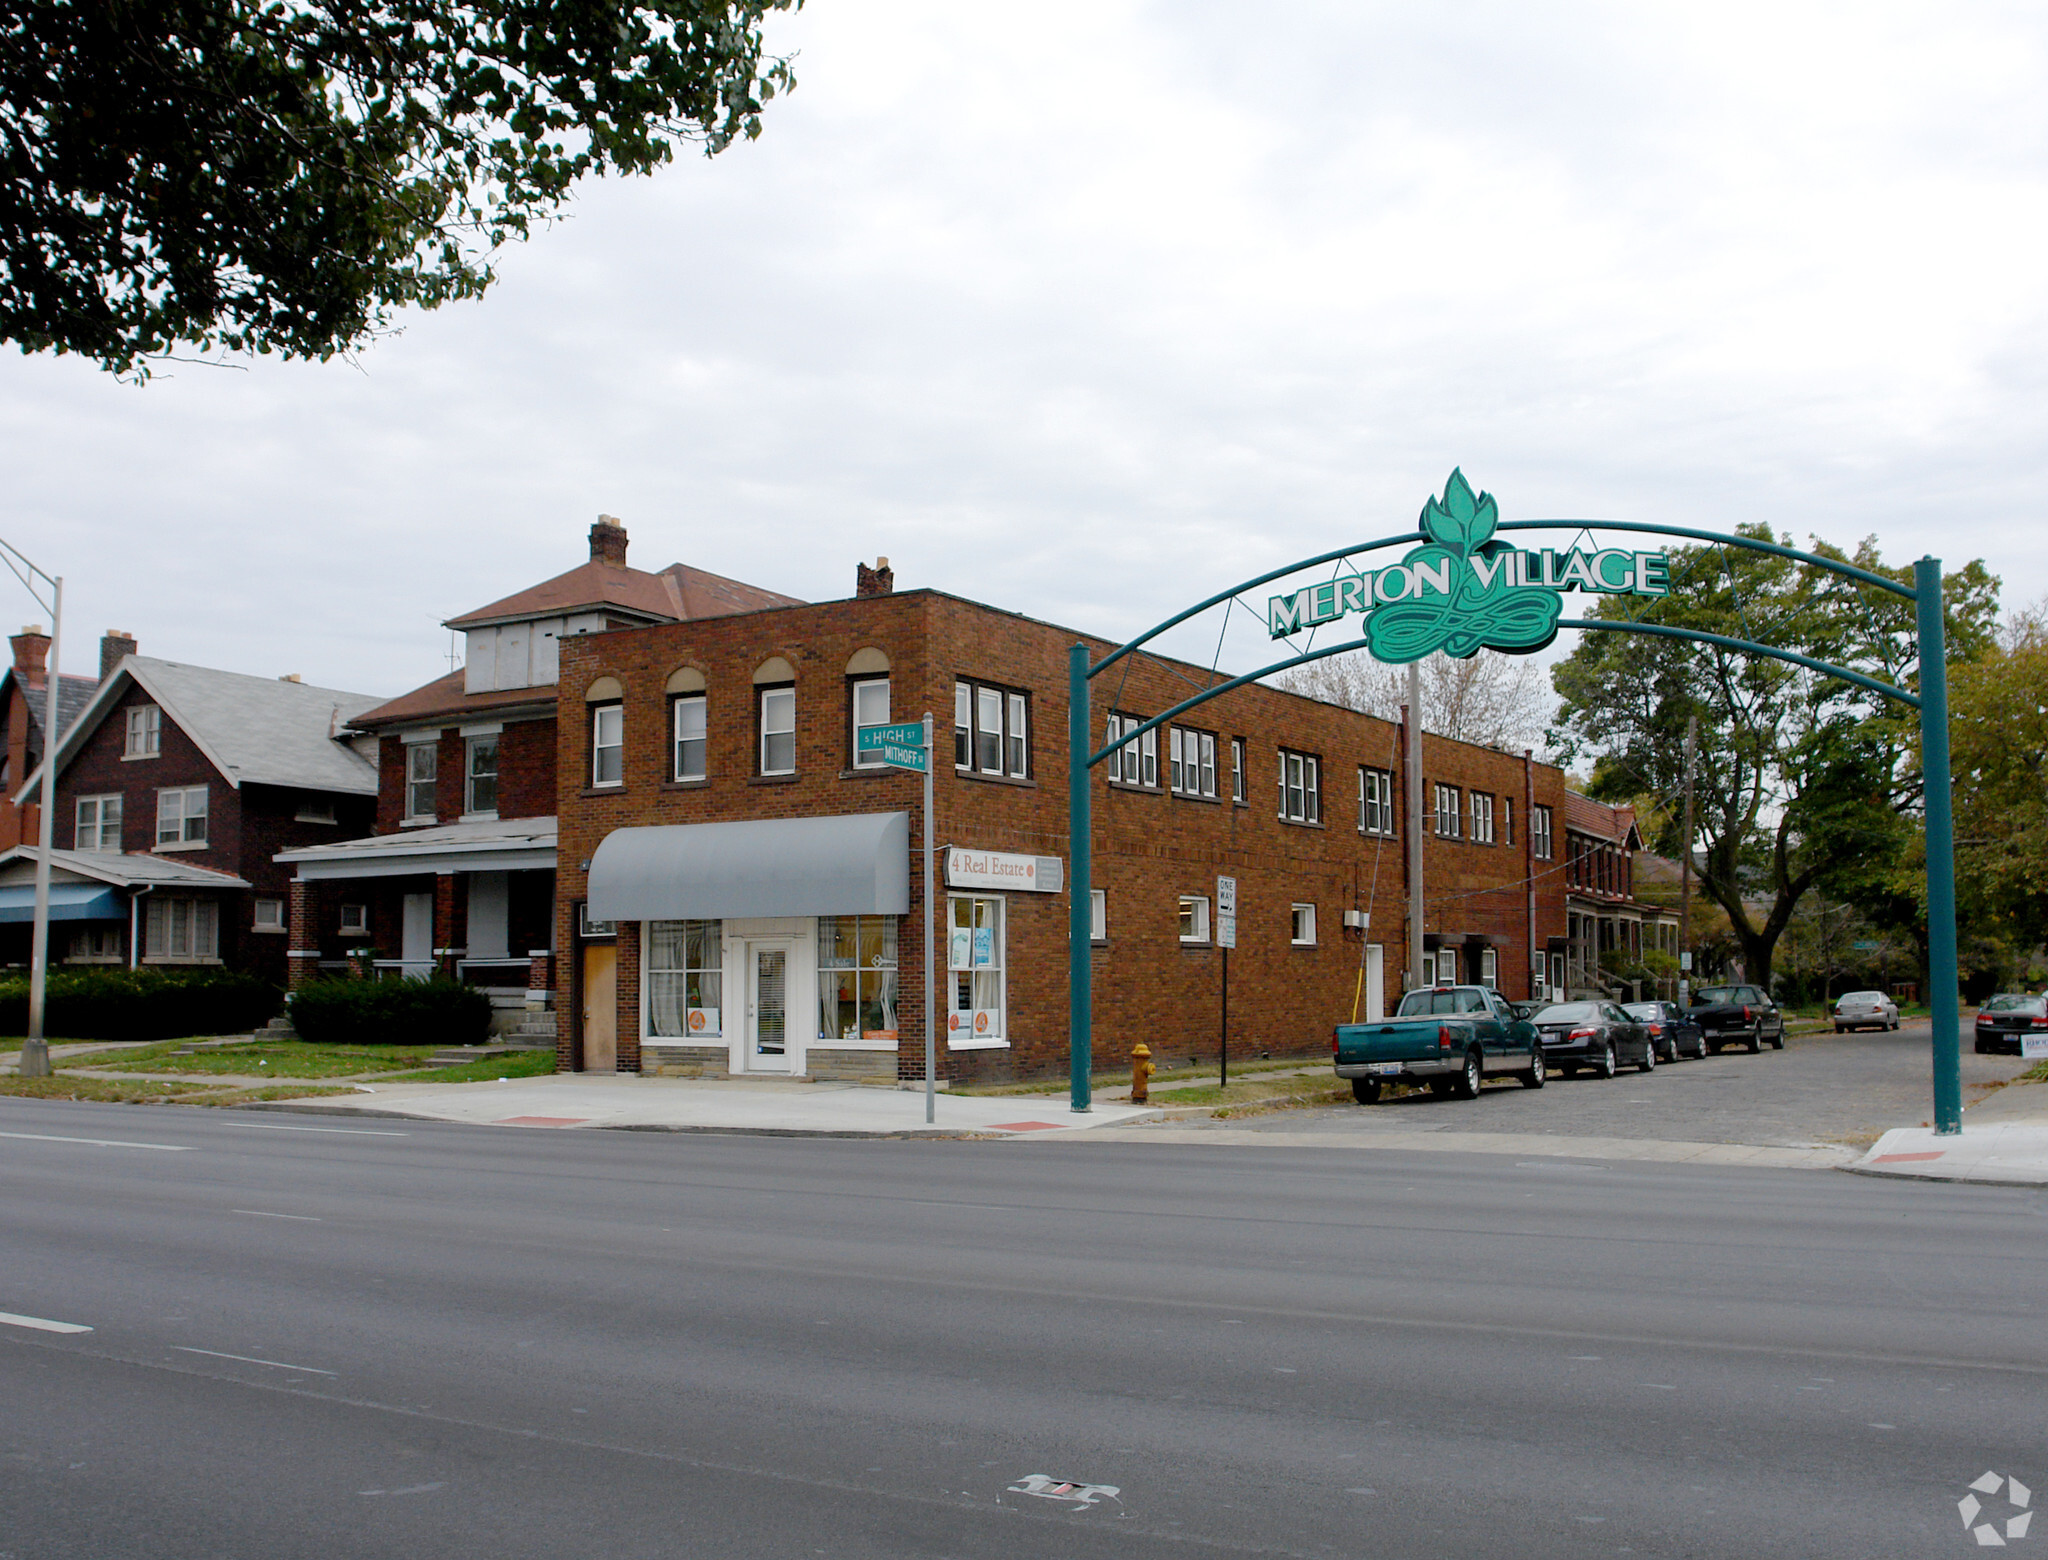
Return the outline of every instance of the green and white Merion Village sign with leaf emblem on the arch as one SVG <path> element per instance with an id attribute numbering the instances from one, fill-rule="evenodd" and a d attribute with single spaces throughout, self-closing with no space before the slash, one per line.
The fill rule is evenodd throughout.
<path id="1" fill-rule="evenodd" d="M 1452 471 L 1444 497 L 1421 510 L 1430 538 L 1399 563 L 1325 579 L 1266 602 L 1274 639 L 1364 618 L 1364 643 L 1380 661 L 1423 655 L 1475 655 L 1481 649 L 1528 655 L 1556 639 L 1565 592 L 1597 596 L 1669 596 L 1671 565 L 1663 553 L 1622 549 L 1524 551 L 1495 540 L 1499 506 L 1493 493 L 1473 493 Z"/>

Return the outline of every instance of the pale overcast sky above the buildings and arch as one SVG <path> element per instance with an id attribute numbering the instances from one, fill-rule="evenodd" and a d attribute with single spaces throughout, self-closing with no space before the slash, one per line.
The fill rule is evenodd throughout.
<path id="1" fill-rule="evenodd" d="M 1503 518 L 2048 594 L 2040 4 L 811 0 L 774 41 L 760 141 L 586 184 L 356 364 L 0 358 L 66 669 L 127 629 L 395 694 L 598 512 L 641 567 L 827 600 L 889 555 L 1120 637 L 1452 465 Z"/>

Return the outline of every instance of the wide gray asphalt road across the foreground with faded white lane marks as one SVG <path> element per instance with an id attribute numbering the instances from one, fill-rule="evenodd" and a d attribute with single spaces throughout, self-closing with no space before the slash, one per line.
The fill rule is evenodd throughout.
<path id="1" fill-rule="evenodd" d="M 0 1556 L 1962 1554 L 2042 1296 L 2001 1187 L 6 1099 Z"/>

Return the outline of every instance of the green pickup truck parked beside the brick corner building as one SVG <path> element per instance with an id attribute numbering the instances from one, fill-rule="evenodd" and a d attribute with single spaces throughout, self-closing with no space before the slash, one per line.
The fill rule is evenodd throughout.
<path id="1" fill-rule="evenodd" d="M 1491 987 L 1430 987 L 1401 999 L 1378 1024 L 1339 1024 L 1329 1040 L 1337 1077 L 1370 1106 L 1389 1083 L 1427 1083 L 1436 1095 L 1477 1099 L 1489 1073 L 1513 1073 L 1524 1089 L 1544 1083 L 1536 1026 Z"/>

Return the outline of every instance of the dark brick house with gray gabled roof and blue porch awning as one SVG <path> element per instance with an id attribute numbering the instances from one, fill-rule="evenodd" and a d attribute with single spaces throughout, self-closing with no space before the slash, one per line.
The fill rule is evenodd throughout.
<path id="1" fill-rule="evenodd" d="M 348 721 L 377 698 L 102 645 L 109 676 L 57 745 L 53 966 L 227 966 L 285 981 L 281 850 L 369 827 L 377 772 Z M 41 774 L 14 786 L 23 805 Z M 27 893 L 35 846 L 0 852 Z M 10 960 L 29 927 L 6 923 Z M 18 950 L 14 944 L 18 942 Z"/>

